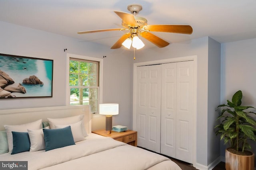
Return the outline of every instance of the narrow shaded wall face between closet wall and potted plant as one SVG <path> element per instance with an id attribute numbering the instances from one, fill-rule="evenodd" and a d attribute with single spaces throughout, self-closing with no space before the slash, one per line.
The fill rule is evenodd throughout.
<path id="1" fill-rule="evenodd" d="M 208 46 L 208 165 L 220 156 L 220 139 L 216 137 L 214 127 L 217 125 L 218 112 L 216 107 L 220 105 L 220 49 L 221 45 L 209 38 Z"/>

